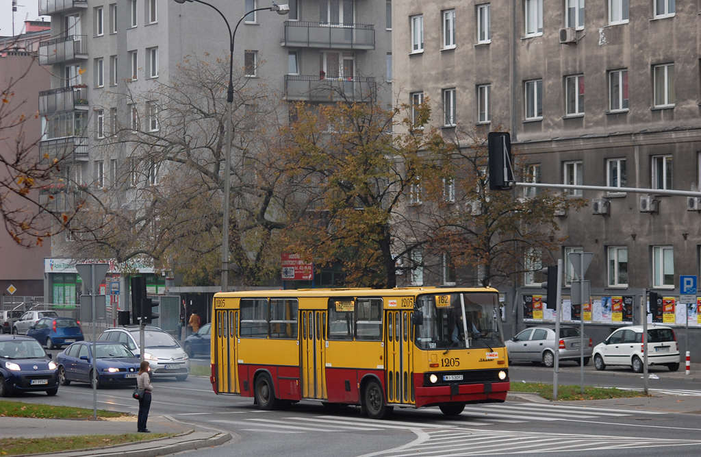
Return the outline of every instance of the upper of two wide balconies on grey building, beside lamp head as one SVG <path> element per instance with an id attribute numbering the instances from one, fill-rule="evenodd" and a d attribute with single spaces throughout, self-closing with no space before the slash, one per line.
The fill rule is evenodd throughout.
<path id="1" fill-rule="evenodd" d="M 374 49 L 375 29 L 368 24 L 285 22 L 283 46 L 324 49 Z"/>

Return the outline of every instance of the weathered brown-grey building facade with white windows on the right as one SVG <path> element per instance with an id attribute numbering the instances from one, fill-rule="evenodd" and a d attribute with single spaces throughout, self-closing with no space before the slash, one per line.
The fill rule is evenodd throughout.
<path id="1" fill-rule="evenodd" d="M 568 237 L 560 251 L 540 253 L 542 260 L 525 265 L 531 272 L 496 284 L 508 303 L 509 336 L 552 322 L 552 312 L 534 310 L 533 301 L 543 292 L 536 270 L 558 258 L 566 270 L 564 319 L 578 322 L 566 254 L 582 250 L 594 253 L 585 277 L 591 303 L 583 312 L 595 340 L 641 322 L 646 290 L 665 297 L 664 315 L 654 322 L 700 326 L 697 305 L 688 312 L 679 305 L 680 274 L 701 274 L 698 199 L 655 194 L 698 190 L 701 183 L 697 5 L 397 0 L 394 6 L 397 98 L 428 96 L 432 122 L 447 133 L 456 124 L 510 131 L 531 179 L 541 183 L 650 189 L 569 191 L 588 206 L 557 218 Z M 527 197 L 522 187 L 514 196 Z M 472 273 L 458 272 L 458 284 L 473 281 Z"/>

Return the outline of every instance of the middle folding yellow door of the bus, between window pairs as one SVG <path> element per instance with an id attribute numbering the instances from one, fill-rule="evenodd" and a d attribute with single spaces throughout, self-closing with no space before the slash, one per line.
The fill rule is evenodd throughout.
<path id="1" fill-rule="evenodd" d="M 326 311 L 301 311 L 301 383 L 304 398 L 326 398 Z"/>

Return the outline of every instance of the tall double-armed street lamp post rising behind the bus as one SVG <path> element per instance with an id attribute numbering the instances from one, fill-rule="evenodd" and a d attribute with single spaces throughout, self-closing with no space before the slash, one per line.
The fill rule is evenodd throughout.
<path id="1" fill-rule="evenodd" d="M 184 4 L 186 1 L 194 1 L 198 4 L 203 4 L 214 8 L 217 13 L 226 22 L 226 28 L 229 29 L 229 88 L 226 91 L 226 145 L 224 151 L 224 220 L 222 221 L 222 291 L 229 291 L 229 199 L 231 194 L 231 113 L 233 112 L 233 42 L 236 39 L 236 31 L 238 26 L 243 22 L 247 15 L 257 11 L 277 11 L 280 15 L 290 13 L 290 6 L 278 5 L 273 1 L 273 6 L 268 8 L 255 8 L 245 13 L 236 22 L 236 27 L 231 32 L 229 21 L 219 8 L 212 4 L 208 4 L 202 0 L 175 0 L 179 4 Z"/>

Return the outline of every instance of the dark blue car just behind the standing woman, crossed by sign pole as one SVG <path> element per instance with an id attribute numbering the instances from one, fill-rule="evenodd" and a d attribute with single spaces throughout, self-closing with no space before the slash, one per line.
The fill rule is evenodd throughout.
<path id="1" fill-rule="evenodd" d="M 109 341 L 96 341 L 97 387 L 104 384 L 136 384 L 141 360 L 124 345 Z M 58 378 L 61 385 L 72 381 L 92 383 L 93 345 L 90 341 L 73 343 L 56 356 Z"/>

